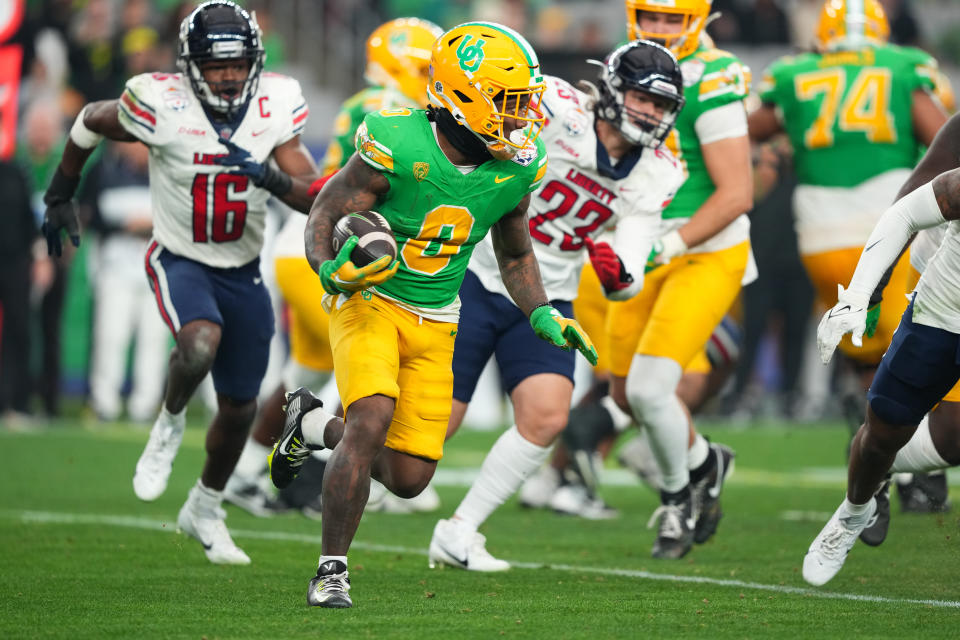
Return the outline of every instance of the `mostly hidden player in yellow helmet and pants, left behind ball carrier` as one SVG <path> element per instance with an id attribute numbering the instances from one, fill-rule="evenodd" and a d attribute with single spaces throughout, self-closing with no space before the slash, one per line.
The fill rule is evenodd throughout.
<path id="1" fill-rule="evenodd" d="M 364 73 L 371 86 L 351 96 L 343 103 L 333 125 L 333 140 L 321 162 L 322 173 L 330 176 L 353 155 L 353 139 L 357 128 L 368 113 L 381 109 L 427 106 L 427 68 L 430 52 L 443 29 L 427 20 L 397 18 L 374 29 L 367 38 L 367 69 Z M 319 191 L 322 181 L 312 188 Z M 227 483 L 226 499 L 257 515 L 269 515 L 271 507 L 285 508 L 283 498 L 302 498 L 319 494 L 316 478 L 322 477 L 323 462 L 307 460 L 313 469 L 297 480 L 309 486 L 288 487 L 278 503 L 260 488 L 260 478 L 266 471 L 270 449 L 283 432 L 281 407 L 286 390 L 307 387 L 320 390 L 333 372 L 333 354 L 330 351 L 330 317 L 321 306 L 323 288 L 317 274 L 310 268 L 304 255 L 303 231 L 307 219 L 289 216 L 277 235 L 273 246 L 274 269 L 277 284 L 287 303 L 290 317 L 290 359 L 283 370 L 283 380 L 264 403 L 254 423 L 250 440 L 237 463 L 237 470 Z M 314 478 L 314 480 L 310 480 Z M 315 485 L 315 486 L 313 486 Z M 380 491 L 386 491 L 379 487 Z M 432 489 L 429 488 L 428 489 Z M 292 494 L 292 495 L 291 495 Z M 433 492 L 434 502 L 439 502 Z M 426 496 L 422 496 L 426 498 Z M 418 496 L 416 504 L 425 504 Z M 385 496 L 381 504 L 390 498 Z M 399 499 L 394 498 L 399 502 Z M 316 513 L 318 501 L 303 505 L 304 513 Z M 395 504 L 394 501 L 390 501 Z M 404 502 L 402 506 L 413 504 Z"/>

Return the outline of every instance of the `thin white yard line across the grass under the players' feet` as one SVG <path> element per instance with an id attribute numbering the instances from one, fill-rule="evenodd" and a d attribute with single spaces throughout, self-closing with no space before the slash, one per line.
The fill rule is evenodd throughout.
<path id="1" fill-rule="evenodd" d="M 93 513 L 54 513 L 50 511 L 0 511 L 0 515 L 6 519 L 19 520 L 27 523 L 38 524 L 89 524 L 112 527 L 128 527 L 132 529 L 146 529 L 149 531 L 168 531 L 173 532 L 176 525 L 173 521 L 162 522 L 160 520 L 151 520 L 149 518 L 138 518 L 134 516 L 111 516 L 105 514 Z M 230 529 L 230 533 L 235 538 L 253 538 L 258 540 L 283 540 L 285 542 L 307 542 L 320 546 L 320 536 L 311 534 L 287 533 L 283 531 L 254 531 L 249 529 Z M 416 549 L 412 547 L 400 547 L 393 545 L 371 544 L 368 542 L 354 542 L 353 547 L 365 551 L 378 551 L 386 553 L 406 553 L 412 555 L 426 556 L 426 549 Z M 825 598 L 829 600 L 852 600 L 857 602 L 880 602 L 889 604 L 916 604 L 926 607 L 941 607 L 949 609 L 960 609 L 960 602 L 953 600 L 935 600 L 921 598 L 891 598 L 887 596 L 870 596 L 856 593 L 840 593 L 833 591 L 821 591 L 819 589 L 807 589 L 803 587 L 788 587 L 777 584 L 763 584 L 760 582 L 745 582 L 743 580 L 727 580 L 723 578 L 707 578 L 703 576 L 681 576 L 668 573 L 651 573 L 649 571 L 639 571 L 634 569 L 611 569 L 607 567 L 582 567 L 571 564 L 552 564 L 535 562 L 514 562 L 510 564 L 518 569 L 543 569 L 550 568 L 555 571 L 568 571 L 571 573 L 592 573 L 597 575 L 623 576 L 627 578 L 637 578 L 639 580 L 658 580 L 661 582 L 680 582 L 695 584 L 710 584 L 719 587 L 736 587 L 738 589 L 751 589 L 754 591 L 767 591 L 772 593 L 782 593 L 789 595 L 809 596 L 813 598 Z"/>

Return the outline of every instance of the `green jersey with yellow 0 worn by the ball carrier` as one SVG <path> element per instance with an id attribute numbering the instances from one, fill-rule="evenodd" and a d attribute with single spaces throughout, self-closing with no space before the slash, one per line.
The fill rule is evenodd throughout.
<path id="1" fill-rule="evenodd" d="M 538 139 L 511 160 L 489 160 L 464 175 L 440 150 L 419 109 L 367 115 L 356 148 L 390 182 L 376 206 L 393 229 L 400 268 L 376 290 L 428 309 L 457 299 L 473 247 L 540 186 L 547 170 Z"/>

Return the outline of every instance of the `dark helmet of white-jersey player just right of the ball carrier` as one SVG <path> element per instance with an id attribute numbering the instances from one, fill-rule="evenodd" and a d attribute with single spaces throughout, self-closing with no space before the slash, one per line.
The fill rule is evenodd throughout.
<path id="1" fill-rule="evenodd" d="M 683 76 L 673 54 L 655 42 L 634 40 L 605 62 L 591 62 L 601 67 L 597 117 L 611 123 L 633 145 L 655 149 L 663 144 L 684 104 Z M 634 107 L 640 101 L 631 99 L 632 91 L 639 92 L 652 108 Z"/>

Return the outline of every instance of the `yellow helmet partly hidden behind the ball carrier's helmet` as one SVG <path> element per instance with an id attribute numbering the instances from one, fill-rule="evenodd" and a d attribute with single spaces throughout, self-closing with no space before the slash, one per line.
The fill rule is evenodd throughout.
<path id="1" fill-rule="evenodd" d="M 427 106 L 430 51 L 443 29 L 419 18 L 397 18 L 367 38 L 367 81 L 396 89 L 421 107 Z"/>

